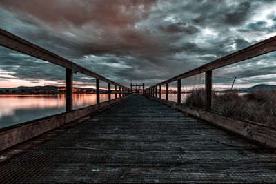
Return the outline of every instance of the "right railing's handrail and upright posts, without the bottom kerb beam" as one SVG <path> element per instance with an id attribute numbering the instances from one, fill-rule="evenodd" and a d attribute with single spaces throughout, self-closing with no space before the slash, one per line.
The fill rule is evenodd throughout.
<path id="1" fill-rule="evenodd" d="M 169 83 L 177 81 L 177 103 L 181 103 L 181 79 L 186 79 L 190 76 L 195 76 L 197 74 L 205 73 L 205 109 L 210 111 L 212 105 L 212 70 L 217 68 L 222 68 L 226 65 L 231 65 L 233 63 L 238 63 L 246 59 L 253 57 L 258 57 L 262 54 L 267 54 L 276 50 L 276 36 L 266 39 L 259 43 L 244 48 L 233 54 L 229 54 L 226 57 L 221 57 L 213 62 L 201 65 L 199 68 L 195 68 L 184 74 L 179 74 L 171 79 L 162 81 L 155 85 L 151 85 L 149 88 L 146 88 L 146 94 L 150 96 L 155 96 L 157 98 L 157 88 L 159 88 L 159 99 L 161 99 L 161 89 L 162 85 L 166 85 L 166 101 L 168 101 L 168 87 Z"/>

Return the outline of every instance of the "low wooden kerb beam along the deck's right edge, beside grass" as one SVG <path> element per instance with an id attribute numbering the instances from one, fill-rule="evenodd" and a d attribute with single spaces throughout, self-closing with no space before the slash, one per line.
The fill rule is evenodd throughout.
<path id="1" fill-rule="evenodd" d="M 151 96 L 148 97 L 166 105 L 170 105 L 170 107 L 186 112 L 187 114 L 196 116 L 199 119 L 208 121 L 213 125 L 224 128 L 225 130 L 238 134 L 239 136 L 243 136 L 249 141 L 254 141 L 265 147 L 276 148 L 276 130 L 273 127 L 249 121 L 231 119 L 213 112 L 188 108 L 185 105 L 177 104 L 173 101 L 152 98 Z"/>

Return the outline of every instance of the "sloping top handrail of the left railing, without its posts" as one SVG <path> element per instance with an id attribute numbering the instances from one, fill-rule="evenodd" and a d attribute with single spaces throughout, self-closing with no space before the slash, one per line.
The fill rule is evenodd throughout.
<path id="1" fill-rule="evenodd" d="M 105 81 L 107 83 L 112 83 L 113 85 L 118 85 L 121 87 L 125 87 L 124 85 L 120 85 L 119 83 L 115 83 L 106 79 L 105 77 L 92 72 L 86 68 L 83 68 L 81 65 L 77 65 L 68 59 L 58 56 L 48 50 L 45 50 L 33 43 L 26 41 L 25 39 L 21 39 L 20 37 L 11 34 L 10 32 L 6 32 L 5 30 L 0 29 L 0 45 L 10 48 L 12 50 L 17 50 L 24 54 L 28 54 L 32 57 L 37 57 L 38 59 L 42 59 L 44 61 L 48 61 L 50 63 L 54 63 L 56 65 L 60 65 L 64 68 L 72 69 L 72 65 L 75 65 L 77 68 L 77 72 L 86 74 L 88 76 L 95 77 L 96 79 L 100 79 L 101 81 Z"/>

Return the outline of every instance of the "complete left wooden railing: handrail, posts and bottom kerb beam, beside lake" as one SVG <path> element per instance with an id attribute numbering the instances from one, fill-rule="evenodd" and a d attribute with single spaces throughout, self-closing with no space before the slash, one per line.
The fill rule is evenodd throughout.
<path id="1" fill-rule="evenodd" d="M 87 68 L 83 68 L 81 65 L 77 65 L 77 63 L 73 63 L 68 59 L 60 57 L 57 54 L 49 52 L 48 50 L 34 45 L 33 43 L 21 39 L 20 37 L 17 37 L 14 34 L 6 32 L 2 29 L 0 29 L 0 45 L 66 68 L 66 112 L 1 128 L 0 151 L 11 147 L 12 145 L 31 139 L 34 136 L 38 136 L 39 134 L 55 129 L 56 127 L 80 119 L 81 117 L 91 114 L 92 112 L 115 105 L 116 103 L 128 98 L 131 94 L 128 87 L 115 83 L 114 81 L 110 81 L 109 79 L 106 79 L 105 77 L 92 72 Z M 78 110 L 72 110 L 73 73 L 77 72 L 86 74 L 87 76 L 91 76 L 96 79 L 97 104 Z M 99 95 L 100 80 L 108 83 L 108 101 L 104 101 L 102 103 L 100 103 Z M 115 85 L 115 90 L 111 90 L 111 84 Z M 117 87 L 119 87 L 119 90 L 117 90 Z M 115 99 L 111 99 L 111 94 L 115 94 Z M 119 95 L 117 96 L 117 94 Z"/>

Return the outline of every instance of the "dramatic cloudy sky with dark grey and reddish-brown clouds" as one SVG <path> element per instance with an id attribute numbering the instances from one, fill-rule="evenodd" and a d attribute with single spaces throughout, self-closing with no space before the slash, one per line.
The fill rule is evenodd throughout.
<path id="1" fill-rule="evenodd" d="M 275 36 L 276 1 L 0 0 L 0 28 L 117 83 L 152 85 Z M 272 84 L 275 58 L 215 70 L 215 88 L 236 76 L 237 87 Z M 64 79 L 63 68 L 0 47 L 0 87 Z M 75 85 L 93 83 L 75 76 Z"/>

